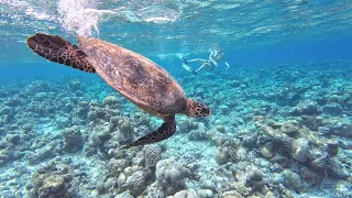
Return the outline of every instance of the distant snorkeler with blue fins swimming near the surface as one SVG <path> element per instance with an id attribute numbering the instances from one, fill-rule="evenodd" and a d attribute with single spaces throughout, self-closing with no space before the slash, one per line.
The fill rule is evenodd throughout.
<path id="1" fill-rule="evenodd" d="M 224 61 L 224 53 L 222 51 L 211 51 L 210 55 L 209 55 L 209 59 L 200 59 L 200 58 L 195 58 L 195 59 L 189 59 L 187 61 L 186 58 L 182 58 L 183 59 L 183 67 L 193 73 L 194 75 L 197 75 L 197 73 L 202 69 L 202 68 L 207 68 L 209 70 L 215 69 L 216 67 L 218 67 L 218 64 L 223 62 L 224 65 L 227 66 L 227 69 L 230 68 L 230 65 L 228 64 L 228 62 Z M 200 65 L 200 67 L 197 70 L 194 70 L 193 68 L 190 68 L 188 66 L 189 63 L 196 62 Z"/>

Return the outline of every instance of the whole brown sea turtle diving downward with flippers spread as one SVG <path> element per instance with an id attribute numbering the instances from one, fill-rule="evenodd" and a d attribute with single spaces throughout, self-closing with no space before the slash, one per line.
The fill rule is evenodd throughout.
<path id="1" fill-rule="evenodd" d="M 135 142 L 121 146 L 163 141 L 176 132 L 175 114 L 209 117 L 210 109 L 188 99 L 183 88 L 162 67 L 148 58 L 121 46 L 77 36 L 79 47 L 58 35 L 36 33 L 26 40 L 37 55 L 87 73 L 98 73 L 113 89 L 142 110 L 164 120 L 162 127 Z"/>

